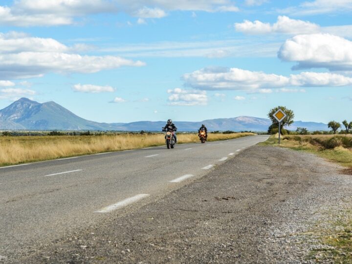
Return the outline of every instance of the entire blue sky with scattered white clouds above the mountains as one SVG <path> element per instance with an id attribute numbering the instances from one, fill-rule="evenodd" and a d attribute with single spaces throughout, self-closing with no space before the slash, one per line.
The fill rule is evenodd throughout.
<path id="1" fill-rule="evenodd" d="M 0 109 L 352 121 L 352 0 L 2 0 Z"/>

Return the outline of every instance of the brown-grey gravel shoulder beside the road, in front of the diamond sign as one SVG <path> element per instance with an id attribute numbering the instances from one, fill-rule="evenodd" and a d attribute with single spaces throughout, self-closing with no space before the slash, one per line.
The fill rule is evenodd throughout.
<path id="1" fill-rule="evenodd" d="M 307 256 L 323 245 L 312 228 L 351 207 L 352 176 L 340 170 L 254 146 L 165 197 L 0 263 L 314 263 Z"/>

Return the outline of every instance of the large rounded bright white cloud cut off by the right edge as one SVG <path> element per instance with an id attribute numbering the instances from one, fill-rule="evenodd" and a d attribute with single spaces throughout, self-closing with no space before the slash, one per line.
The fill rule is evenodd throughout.
<path id="1" fill-rule="evenodd" d="M 330 34 L 298 35 L 280 47 L 278 57 L 298 62 L 293 69 L 352 70 L 352 42 Z"/>

